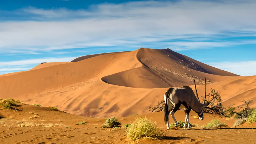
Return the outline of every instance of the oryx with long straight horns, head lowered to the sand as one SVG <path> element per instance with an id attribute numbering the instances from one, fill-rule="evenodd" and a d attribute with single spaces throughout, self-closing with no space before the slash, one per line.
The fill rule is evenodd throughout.
<path id="1" fill-rule="evenodd" d="M 195 78 L 194 78 L 194 84 L 195 84 L 195 88 L 196 88 L 196 82 L 195 82 Z M 165 106 L 164 106 L 164 122 L 165 124 L 167 124 L 167 129 L 169 130 L 169 112 L 170 112 L 170 108 L 171 108 L 171 104 L 173 105 L 173 109 L 170 112 L 176 126 L 175 128 L 178 127 L 178 123 L 174 117 L 174 113 L 179 109 L 179 108 L 183 108 L 186 114 L 185 117 L 185 124 L 184 124 L 184 129 L 186 129 L 186 123 L 188 121 L 188 128 L 190 129 L 191 126 L 189 124 L 189 112 L 191 111 L 191 109 L 193 109 L 193 111 L 195 111 L 200 120 L 203 120 L 203 112 L 205 107 L 207 107 L 209 105 L 209 103 L 205 104 L 205 98 L 206 98 L 206 78 L 205 78 L 205 97 L 203 99 L 203 103 L 201 104 L 198 95 L 197 95 L 197 91 L 196 91 L 196 96 L 193 92 L 193 90 L 191 89 L 191 87 L 189 86 L 183 86 L 183 87 L 171 87 L 169 88 L 166 93 L 164 94 L 164 102 L 165 102 Z"/>

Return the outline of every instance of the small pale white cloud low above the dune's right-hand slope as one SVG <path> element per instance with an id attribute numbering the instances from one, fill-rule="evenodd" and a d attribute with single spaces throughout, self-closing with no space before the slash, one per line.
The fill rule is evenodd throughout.
<path id="1" fill-rule="evenodd" d="M 254 76 L 256 74 L 256 61 L 210 62 L 206 64 L 240 76 Z"/>

